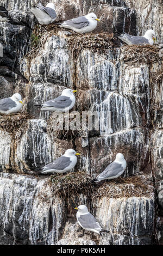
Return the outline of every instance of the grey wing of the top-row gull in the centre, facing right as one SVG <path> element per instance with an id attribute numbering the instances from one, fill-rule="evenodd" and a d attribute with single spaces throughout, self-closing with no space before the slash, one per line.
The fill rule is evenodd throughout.
<path id="1" fill-rule="evenodd" d="M 74 27 L 77 29 L 81 29 L 81 28 L 89 26 L 90 22 L 84 16 L 81 16 L 78 18 L 74 18 L 72 20 L 64 21 L 64 23 L 68 26 L 71 26 L 71 27 Z"/>

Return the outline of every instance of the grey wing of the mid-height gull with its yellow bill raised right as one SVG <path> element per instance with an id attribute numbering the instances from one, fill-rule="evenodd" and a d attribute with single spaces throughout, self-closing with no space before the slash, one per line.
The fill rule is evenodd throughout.
<path id="1" fill-rule="evenodd" d="M 72 103 L 72 100 L 70 100 L 70 97 L 61 95 L 54 100 L 46 101 L 43 104 L 43 107 L 65 108 L 65 107 L 69 107 L 71 103 Z"/>

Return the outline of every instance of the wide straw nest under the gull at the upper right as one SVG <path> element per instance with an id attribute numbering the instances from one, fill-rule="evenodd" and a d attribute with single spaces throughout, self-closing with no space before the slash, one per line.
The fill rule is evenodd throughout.
<path id="1" fill-rule="evenodd" d="M 130 64 L 161 63 L 160 48 L 153 45 L 129 45 L 121 47 L 121 59 Z"/>

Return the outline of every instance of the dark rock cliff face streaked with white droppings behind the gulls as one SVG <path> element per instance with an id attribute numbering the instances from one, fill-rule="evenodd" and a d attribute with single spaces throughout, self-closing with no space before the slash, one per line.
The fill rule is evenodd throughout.
<path id="1" fill-rule="evenodd" d="M 48 2 L 43 0 L 42 4 Z M 136 35 L 153 28 L 158 43 L 163 43 L 160 0 L 51 2 L 56 6 L 58 20 L 95 12 L 101 22 L 92 35 L 102 31 Z M 162 72 L 161 62 L 124 60 L 118 40 L 104 51 L 85 47 L 74 54 L 68 40 L 72 33 L 64 29 L 53 33 L 45 27 L 43 38 L 39 37 L 44 41 L 29 56 L 37 23 L 30 12 L 34 4 L 36 0 L 0 0 L 12 19 L 0 22 L 4 47 L 4 56 L 0 57 L 0 98 L 19 92 L 26 103 L 23 111 L 32 115 L 21 133 L 22 124 L 17 124 L 14 135 L 0 121 L 0 244 L 163 243 L 163 81 L 158 75 Z M 74 111 L 104 113 L 103 129 L 80 131 L 73 138 L 54 136 L 50 125 L 53 114 L 40 112 L 34 105 L 59 96 L 65 88 L 78 90 Z M 110 113 L 109 124 L 106 113 Z M 68 148 L 82 154 L 75 171 L 92 178 L 115 159 L 116 153 L 123 153 L 127 161 L 124 178 L 140 173 L 141 185 L 147 182 L 149 191 L 142 186 L 142 191 L 135 193 L 136 185 L 128 182 L 124 184 L 129 191 L 126 196 L 115 182 L 109 195 L 92 194 L 90 200 L 79 191 L 67 202 L 66 197 L 52 193 L 49 176 L 40 175 L 39 170 Z M 104 191 L 112 189 L 107 184 L 102 184 Z M 80 229 L 70 204 L 72 208 L 86 204 L 110 233 L 74 237 Z"/>

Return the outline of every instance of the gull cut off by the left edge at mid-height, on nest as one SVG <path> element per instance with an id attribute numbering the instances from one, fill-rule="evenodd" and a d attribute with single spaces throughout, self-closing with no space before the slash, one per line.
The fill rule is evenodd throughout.
<path id="1" fill-rule="evenodd" d="M 23 106 L 22 96 L 15 93 L 11 97 L 0 100 L 0 113 L 11 114 L 17 113 Z"/>

